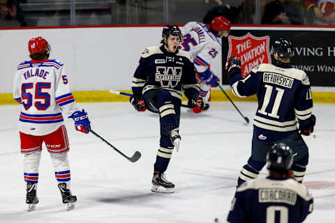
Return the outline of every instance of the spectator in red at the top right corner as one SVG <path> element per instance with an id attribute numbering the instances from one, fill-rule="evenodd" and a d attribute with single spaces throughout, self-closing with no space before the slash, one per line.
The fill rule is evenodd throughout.
<path id="1" fill-rule="evenodd" d="M 335 24 L 335 3 L 325 0 L 306 0 L 305 6 L 314 17 L 314 24 Z"/>

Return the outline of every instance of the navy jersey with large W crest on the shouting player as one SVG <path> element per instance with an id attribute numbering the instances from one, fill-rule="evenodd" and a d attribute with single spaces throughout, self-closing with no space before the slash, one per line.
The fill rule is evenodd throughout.
<path id="1" fill-rule="evenodd" d="M 132 90 L 135 97 L 142 98 L 150 89 L 168 90 L 180 100 L 182 91 L 188 98 L 198 94 L 195 68 L 188 52 L 177 49 L 171 53 L 163 45 L 145 49 L 135 70 Z"/>

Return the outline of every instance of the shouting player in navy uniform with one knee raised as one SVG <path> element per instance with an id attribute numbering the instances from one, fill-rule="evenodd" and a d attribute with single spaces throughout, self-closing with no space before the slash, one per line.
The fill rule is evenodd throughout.
<path id="1" fill-rule="evenodd" d="M 181 31 L 165 26 L 160 47 L 147 47 L 133 77 L 131 104 L 139 112 L 148 109 L 160 115 L 161 140 L 152 178 L 152 192 L 174 192 L 174 184 L 165 178 L 173 149 L 179 149 L 181 91 L 197 112 L 204 102 L 195 80 L 195 68 L 188 52 L 179 50 Z"/>

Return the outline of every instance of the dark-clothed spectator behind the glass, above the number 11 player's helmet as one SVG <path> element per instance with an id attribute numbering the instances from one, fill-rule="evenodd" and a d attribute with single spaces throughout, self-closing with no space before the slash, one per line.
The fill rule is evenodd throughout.
<path id="1" fill-rule="evenodd" d="M 302 10 L 287 0 L 274 0 L 265 6 L 262 24 L 303 24 Z"/>

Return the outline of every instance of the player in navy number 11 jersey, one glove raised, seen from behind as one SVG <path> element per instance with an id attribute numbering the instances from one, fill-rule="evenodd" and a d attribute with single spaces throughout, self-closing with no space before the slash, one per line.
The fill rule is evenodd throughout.
<path id="1" fill-rule="evenodd" d="M 258 97 L 251 157 L 241 169 L 238 185 L 258 177 L 265 166 L 267 151 L 278 141 L 288 144 L 295 153 L 292 171 L 299 182 L 302 182 L 308 164 L 308 147 L 300 135 L 310 135 L 315 125 L 308 76 L 290 66 L 290 58 L 294 56 L 290 40 L 275 40 L 271 54 L 274 56 L 273 64 L 262 63 L 244 79 L 241 77 L 241 61 L 237 57 L 231 56 L 226 66 L 234 95 L 257 94 Z"/>

